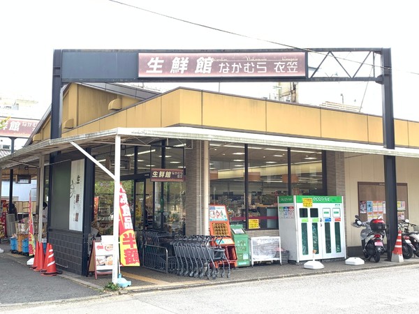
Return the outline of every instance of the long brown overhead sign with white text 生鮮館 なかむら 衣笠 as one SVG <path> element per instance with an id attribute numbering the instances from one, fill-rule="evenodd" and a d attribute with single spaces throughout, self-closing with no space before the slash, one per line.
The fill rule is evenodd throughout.
<path id="1" fill-rule="evenodd" d="M 138 77 L 307 77 L 306 52 L 140 52 Z"/>

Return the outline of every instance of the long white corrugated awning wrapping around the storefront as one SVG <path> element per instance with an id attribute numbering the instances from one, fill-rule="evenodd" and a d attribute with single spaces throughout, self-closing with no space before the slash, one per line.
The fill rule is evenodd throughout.
<path id="1" fill-rule="evenodd" d="M 115 128 L 98 133 L 45 140 L 43 142 L 32 144 L 28 147 L 23 147 L 9 156 L 0 158 L 0 167 L 1 169 L 10 169 L 22 164 L 37 165 L 36 163 L 38 162 L 40 156 L 49 155 L 56 151 L 65 152 L 75 150 L 75 147 L 73 147 L 71 142 L 77 143 L 80 147 L 98 147 L 103 144 L 115 143 L 116 135 L 121 137 L 122 144 L 128 145 L 135 144 L 135 141 L 140 139 L 146 140 L 145 142 L 152 142 L 154 140 L 171 138 L 260 144 L 291 148 L 323 149 L 327 151 L 344 151 L 358 154 L 419 158 L 419 149 L 404 147 L 386 149 L 376 144 L 339 142 L 332 140 L 318 140 L 281 135 L 244 133 L 230 130 L 212 130 L 207 128 L 179 126 L 168 128 Z"/>

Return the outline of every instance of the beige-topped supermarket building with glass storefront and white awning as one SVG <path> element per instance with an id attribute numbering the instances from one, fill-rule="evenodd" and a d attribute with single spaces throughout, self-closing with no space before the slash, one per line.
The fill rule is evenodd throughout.
<path id="1" fill-rule="evenodd" d="M 397 148 L 390 151 L 383 149 L 381 117 L 323 107 L 104 83 L 69 84 L 62 103 L 61 138 L 50 140 L 45 115 L 27 147 L 0 165 L 45 170 L 47 237 L 68 271 L 86 274 L 89 232 L 112 232 L 113 206 L 113 179 L 72 143 L 114 172 L 120 138 L 120 179 L 137 232 L 207 234 L 208 205 L 217 203 L 251 237 L 277 236 L 277 196 L 342 195 L 348 252 L 359 251 L 355 214 L 385 215 L 385 154 L 397 156 L 399 218 L 419 222 L 418 122 L 395 120 Z M 154 172 L 170 180 L 159 181 Z M 77 206 L 71 190 L 80 196 Z"/>

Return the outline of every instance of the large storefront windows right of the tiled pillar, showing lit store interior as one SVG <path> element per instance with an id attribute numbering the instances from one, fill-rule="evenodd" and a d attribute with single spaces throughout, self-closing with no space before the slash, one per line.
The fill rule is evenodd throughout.
<path id="1" fill-rule="evenodd" d="M 323 195 L 322 170 L 318 150 L 211 142 L 210 202 L 225 204 L 231 223 L 277 229 L 277 197 Z"/>

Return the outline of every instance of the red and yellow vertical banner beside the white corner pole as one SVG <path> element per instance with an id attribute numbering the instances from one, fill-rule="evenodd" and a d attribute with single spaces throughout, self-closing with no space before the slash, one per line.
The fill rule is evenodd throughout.
<path id="1" fill-rule="evenodd" d="M 119 185 L 119 262 L 122 266 L 140 266 L 131 211 L 122 184 Z"/>

